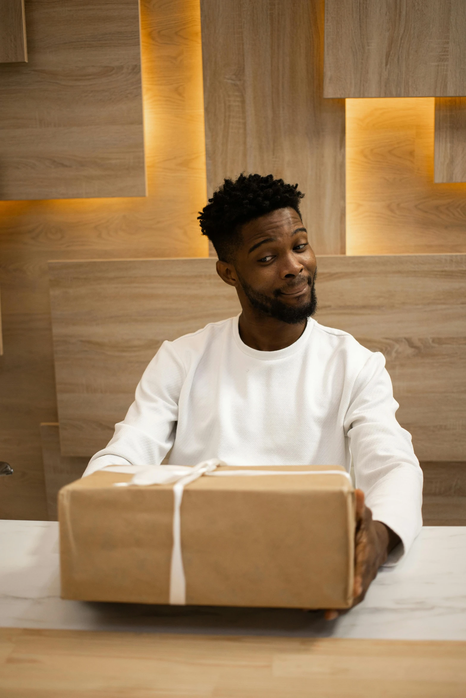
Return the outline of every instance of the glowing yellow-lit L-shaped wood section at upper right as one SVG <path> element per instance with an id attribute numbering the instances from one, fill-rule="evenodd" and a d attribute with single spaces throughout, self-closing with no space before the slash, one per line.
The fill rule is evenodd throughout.
<path id="1" fill-rule="evenodd" d="M 434 102 L 347 100 L 349 255 L 466 252 L 466 184 L 433 181 Z"/>

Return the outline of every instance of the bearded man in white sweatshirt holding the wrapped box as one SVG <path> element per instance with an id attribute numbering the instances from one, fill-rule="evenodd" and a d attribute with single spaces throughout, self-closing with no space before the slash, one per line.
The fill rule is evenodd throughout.
<path id="1" fill-rule="evenodd" d="M 214 193 L 201 229 L 242 313 L 163 343 L 85 475 L 110 464 L 158 464 L 170 448 L 170 463 L 181 465 L 219 458 L 349 470 L 352 458 L 360 488 L 356 604 L 379 566 L 407 551 L 421 529 L 422 471 L 395 419 L 383 355 L 312 319 L 316 258 L 301 198 L 297 184 L 271 174 L 226 179 Z"/>

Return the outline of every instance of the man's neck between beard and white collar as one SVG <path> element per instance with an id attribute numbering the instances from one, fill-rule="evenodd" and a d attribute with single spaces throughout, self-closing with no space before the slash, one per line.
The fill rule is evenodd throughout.
<path id="1" fill-rule="evenodd" d="M 307 320 L 299 325 L 269 318 L 254 308 L 244 309 L 238 322 L 241 340 L 252 349 L 277 351 L 295 343 L 306 329 Z"/>

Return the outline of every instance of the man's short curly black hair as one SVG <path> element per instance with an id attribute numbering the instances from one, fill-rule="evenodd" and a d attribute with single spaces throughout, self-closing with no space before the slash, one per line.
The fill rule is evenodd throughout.
<path id="1" fill-rule="evenodd" d="M 298 184 L 286 184 L 273 174 L 240 174 L 225 179 L 208 204 L 199 211 L 202 234 L 212 242 L 219 260 L 233 261 L 240 226 L 253 218 L 290 207 L 301 217 L 299 202 L 304 194 Z"/>

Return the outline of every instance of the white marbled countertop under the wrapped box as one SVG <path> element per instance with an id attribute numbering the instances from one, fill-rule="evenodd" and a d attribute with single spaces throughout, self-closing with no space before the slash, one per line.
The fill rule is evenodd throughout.
<path id="1" fill-rule="evenodd" d="M 0 541 L 1 627 L 466 640 L 466 526 L 425 526 L 363 603 L 330 622 L 321 611 L 65 601 L 58 523 L 0 521 Z"/>

